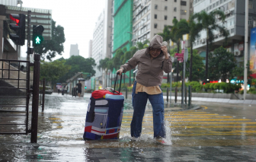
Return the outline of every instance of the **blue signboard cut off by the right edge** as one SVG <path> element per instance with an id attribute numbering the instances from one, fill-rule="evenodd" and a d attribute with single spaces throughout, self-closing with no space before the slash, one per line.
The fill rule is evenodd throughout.
<path id="1" fill-rule="evenodd" d="M 256 27 L 251 29 L 250 41 L 250 70 L 253 74 L 256 73 Z"/>

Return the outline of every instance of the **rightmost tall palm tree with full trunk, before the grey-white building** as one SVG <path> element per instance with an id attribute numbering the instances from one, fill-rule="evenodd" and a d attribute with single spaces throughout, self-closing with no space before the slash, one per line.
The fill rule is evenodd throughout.
<path id="1" fill-rule="evenodd" d="M 214 31 L 219 30 L 219 33 L 222 34 L 222 36 L 225 37 L 226 42 L 229 36 L 229 31 L 226 30 L 225 27 L 222 25 L 217 24 L 217 18 L 219 17 L 220 21 L 222 21 L 221 24 L 225 22 L 225 14 L 223 11 L 216 10 L 212 11 L 210 13 L 207 13 L 206 11 L 201 11 L 199 13 L 196 13 L 192 16 L 193 20 L 197 19 L 197 22 L 202 24 L 202 30 L 206 30 L 206 69 L 205 69 L 205 82 L 208 78 L 208 53 L 209 53 L 209 43 L 213 43 L 214 40 Z"/>

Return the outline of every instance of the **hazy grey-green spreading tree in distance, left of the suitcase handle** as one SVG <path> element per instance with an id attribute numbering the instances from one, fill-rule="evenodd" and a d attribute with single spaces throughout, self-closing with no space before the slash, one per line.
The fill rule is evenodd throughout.
<path id="1" fill-rule="evenodd" d="M 65 65 L 70 65 L 71 69 L 66 73 L 66 75 L 59 79 L 59 82 L 66 82 L 66 80 L 72 78 L 75 73 L 78 72 L 87 72 L 91 75 L 91 77 L 95 75 L 93 67 L 96 65 L 96 63 L 92 58 L 85 59 L 82 56 L 71 56 L 69 59 L 66 59 Z"/>

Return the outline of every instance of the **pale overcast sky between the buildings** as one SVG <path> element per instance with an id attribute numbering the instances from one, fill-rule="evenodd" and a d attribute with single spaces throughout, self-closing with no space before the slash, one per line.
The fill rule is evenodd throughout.
<path id="1" fill-rule="evenodd" d="M 22 7 L 52 10 L 56 25 L 64 27 L 66 42 L 62 56 L 69 58 L 70 44 L 78 44 L 79 54 L 88 58 L 88 42 L 105 0 L 22 0 Z M 24 46 L 26 48 L 26 46 Z M 26 56 L 26 55 L 25 55 Z M 59 59 L 62 56 L 57 56 Z"/>

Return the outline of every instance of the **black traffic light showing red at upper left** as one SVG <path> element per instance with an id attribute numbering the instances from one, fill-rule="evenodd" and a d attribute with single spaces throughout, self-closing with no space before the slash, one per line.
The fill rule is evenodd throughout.
<path id="1" fill-rule="evenodd" d="M 10 14 L 10 19 L 15 21 L 16 24 L 9 24 L 10 29 L 16 33 L 10 33 L 11 40 L 17 45 L 23 46 L 25 44 L 25 27 L 26 27 L 26 16 L 25 14 Z"/>

